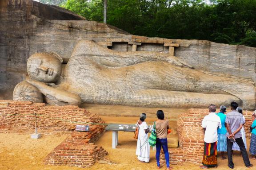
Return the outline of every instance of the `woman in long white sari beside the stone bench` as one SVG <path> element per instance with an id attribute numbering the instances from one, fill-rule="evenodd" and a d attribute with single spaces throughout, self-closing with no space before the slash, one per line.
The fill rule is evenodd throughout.
<path id="1" fill-rule="evenodd" d="M 140 120 L 137 123 L 139 127 L 139 135 L 137 141 L 136 155 L 141 162 L 149 162 L 149 151 L 150 146 L 148 143 L 148 125 L 145 122 L 146 114 L 142 113 L 140 115 Z"/>

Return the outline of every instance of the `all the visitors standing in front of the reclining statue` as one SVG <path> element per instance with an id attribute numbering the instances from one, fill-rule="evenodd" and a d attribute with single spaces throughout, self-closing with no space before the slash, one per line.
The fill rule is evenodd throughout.
<path id="1" fill-rule="evenodd" d="M 231 102 L 231 112 L 226 113 L 226 107 L 220 106 L 220 112 L 216 113 L 216 105 L 209 106 L 209 114 L 202 120 L 202 127 L 204 129 L 204 156 L 202 161 L 202 169 L 208 169 L 211 166 L 217 166 L 217 151 L 220 152 L 220 159 L 227 159 L 224 153 L 228 155 L 228 167 L 233 169 L 234 163 L 232 160 L 233 151 L 240 151 L 240 155 L 244 160 L 246 167 L 251 168 L 248 153 L 246 151 L 246 136 L 243 125 L 245 124 L 245 117 L 243 116 L 243 109 L 238 107 L 236 102 Z M 169 153 L 168 153 L 168 121 L 164 120 L 164 112 L 158 110 L 156 112 L 158 120 L 154 122 L 153 131 L 156 132 L 156 164 L 160 169 L 160 151 L 161 147 L 164 151 L 166 166 L 168 170 Z M 148 132 L 150 129 L 145 122 L 146 114 L 140 115 L 140 120 L 137 122 L 138 127 L 138 141 L 136 148 L 136 155 L 141 162 L 149 162 L 150 145 L 148 143 Z M 256 159 L 256 111 L 252 114 L 251 141 L 249 153 L 252 159 Z"/>

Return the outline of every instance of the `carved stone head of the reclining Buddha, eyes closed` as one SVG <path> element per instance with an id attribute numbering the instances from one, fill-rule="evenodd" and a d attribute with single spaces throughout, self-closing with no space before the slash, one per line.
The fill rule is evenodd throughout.
<path id="1" fill-rule="evenodd" d="M 37 81 L 54 83 L 61 74 L 61 58 L 51 53 L 36 53 L 28 58 L 28 75 Z"/>

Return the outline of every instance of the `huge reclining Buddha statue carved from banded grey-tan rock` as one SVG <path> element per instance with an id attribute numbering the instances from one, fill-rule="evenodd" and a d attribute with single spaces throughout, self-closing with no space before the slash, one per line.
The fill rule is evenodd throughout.
<path id="1" fill-rule="evenodd" d="M 196 70 L 170 54 L 120 52 L 82 40 L 68 63 L 62 62 L 56 53 L 32 54 L 28 76 L 16 85 L 13 99 L 158 108 L 205 108 L 236 101 L 244 109 L 255 107 L 253 81 Z"/>

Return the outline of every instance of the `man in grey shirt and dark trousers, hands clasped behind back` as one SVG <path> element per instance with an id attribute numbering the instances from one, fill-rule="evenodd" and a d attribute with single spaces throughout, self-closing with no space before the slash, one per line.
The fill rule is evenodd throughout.
<path id="1" fill-rule="evenodd" d="M 231 112 L 227 113 L 225 123 L 227 125 L 227 150 L 228 150 L 228 167 L 233 169 L 234 163 L 232 160 L 232 146 L 233 142 L 236 142 L 240 148 L 242 157 L 244 159 L 244 164 L 246 167 L 251 168 L 251 164 L 247 151 L 244 146 L 244 141 L 242 139 L 241 129 L 244 124 L 243 115 L 236 111 L 238 104 L 236 102 L 231 102 Z"/>

